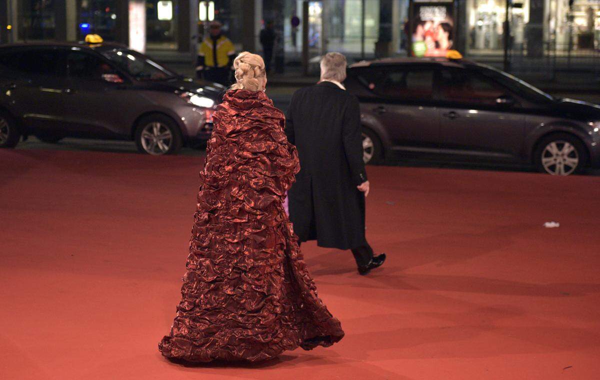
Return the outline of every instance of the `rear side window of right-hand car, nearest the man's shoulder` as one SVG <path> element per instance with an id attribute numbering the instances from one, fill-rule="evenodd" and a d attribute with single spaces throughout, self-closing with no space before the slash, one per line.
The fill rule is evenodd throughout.
<path id="1" fill-rule="evenodd" d="M 433 96 L 433 67 L 364 70 L 357 79 L 374 94 L 389 99 L 422 100 Z"/>

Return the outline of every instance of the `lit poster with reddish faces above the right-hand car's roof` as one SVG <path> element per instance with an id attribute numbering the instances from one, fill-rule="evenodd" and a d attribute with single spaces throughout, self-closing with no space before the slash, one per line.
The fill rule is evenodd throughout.
<path id="1" fill-rule="evenodd" d="M 417 57 L 446 56 L 454 42 L 454 8 L 451 2 L 414 2 L 412 47 Z"/>

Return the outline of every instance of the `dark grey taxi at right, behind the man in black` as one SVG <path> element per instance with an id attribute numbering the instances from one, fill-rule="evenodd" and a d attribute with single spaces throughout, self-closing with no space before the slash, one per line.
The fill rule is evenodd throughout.
<path id="1" fill-rule="evenodd" d="M 386 158 L 532 164 L 568 175 L 600 166 L 600 107 L 559 99 L 466 60 L 351 65 L 365 162 Z"/>

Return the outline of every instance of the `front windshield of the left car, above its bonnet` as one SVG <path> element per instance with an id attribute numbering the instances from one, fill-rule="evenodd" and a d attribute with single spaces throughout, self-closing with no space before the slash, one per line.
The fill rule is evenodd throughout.
<path id="1" fill-rule="evenodd" d="M 137 80 L 167 80 L 177 77 L 176 73 L 133 50 L 115 49 L 104 52 L 103 55 Z"/>

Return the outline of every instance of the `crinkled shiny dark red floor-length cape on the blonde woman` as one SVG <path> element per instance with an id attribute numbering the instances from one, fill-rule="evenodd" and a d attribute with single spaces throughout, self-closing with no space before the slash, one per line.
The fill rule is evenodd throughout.
<path id="1" fill-rule="evenodd" d="M 214 121 L 182 300 L 158 348 L 187 361 L 260 361 L 331 346 L 344 331 L 317 296 L 283 209 L 299 171 L 283 113 L 264 92 L 230 90 Z"/>

